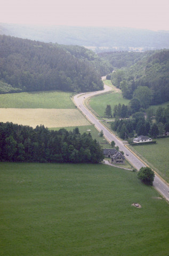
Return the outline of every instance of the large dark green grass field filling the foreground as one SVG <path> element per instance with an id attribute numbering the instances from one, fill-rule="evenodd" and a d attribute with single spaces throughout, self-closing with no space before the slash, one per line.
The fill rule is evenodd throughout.
<path id="1" fill-rule="evenodd" d="M 102 164 L 0 168 L 1 255 L 168 255 L 169 205 L 135 172 Z"/>

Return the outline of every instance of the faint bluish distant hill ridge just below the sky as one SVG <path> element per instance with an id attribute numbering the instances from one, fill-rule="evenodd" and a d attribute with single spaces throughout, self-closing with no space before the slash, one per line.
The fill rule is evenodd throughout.
<path id="1" fill-rule="evenodd" d="M 96 52 L 169 48 L 169 31 L 118 27 L 34 26 L 0 23 L 0 34 L 31 40 L 81 45 Z"/>

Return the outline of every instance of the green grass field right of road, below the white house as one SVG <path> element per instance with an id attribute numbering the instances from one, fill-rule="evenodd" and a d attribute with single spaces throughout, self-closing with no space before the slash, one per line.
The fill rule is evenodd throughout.
<path id="1" fill-rule="evenodd" d="M 156 139 L 156 144 L 139 145 L 131 147 L 143 157 L 161 177 L 169 182 L 169 138 Z"/>

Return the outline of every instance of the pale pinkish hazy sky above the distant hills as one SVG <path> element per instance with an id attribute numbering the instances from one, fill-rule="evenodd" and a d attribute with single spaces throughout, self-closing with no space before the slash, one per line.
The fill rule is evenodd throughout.
<path id="1" fill-rule="evenodd" d="M 169 30 L 169 0 L 1 0 L 0 22 Z"/>

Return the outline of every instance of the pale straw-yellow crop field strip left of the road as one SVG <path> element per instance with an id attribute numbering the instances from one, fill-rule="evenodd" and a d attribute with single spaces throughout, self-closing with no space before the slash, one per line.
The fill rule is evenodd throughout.
<path id="1" fill-rule="evenodd" d="M 45 108 L 0 108 L 0 122 L 36 127 L 66 127 L 90 125 L 77 109 L 45 109 Z"/>

